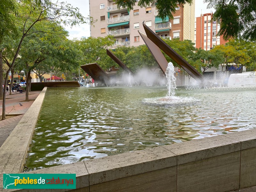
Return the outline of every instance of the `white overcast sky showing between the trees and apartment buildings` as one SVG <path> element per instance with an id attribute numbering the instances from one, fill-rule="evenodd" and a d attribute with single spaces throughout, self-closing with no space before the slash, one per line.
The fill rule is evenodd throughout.
<path id="1" fill-rule="evenodd" d="M 80 12 L 84 15 L 84 17 L 89 16 L 89 0 L 66 0 L 68 4 L 71 4 L 74 7 L 78 7 Z M 207 4 L 204 4 L 203 0 L 196 0 L 196 12 L 195 16 L 199 17 L 202 13 L 209 13 L 214 10 L 206 9 Z M 90 36 L 90 25 L 83 24 L 80 26 L 76 26 L 73 28 L 66 27 L 66 30 L 69 32 L 69 39 L 73 38 L 81 38 L 81 37 L 89 37 Z"/>

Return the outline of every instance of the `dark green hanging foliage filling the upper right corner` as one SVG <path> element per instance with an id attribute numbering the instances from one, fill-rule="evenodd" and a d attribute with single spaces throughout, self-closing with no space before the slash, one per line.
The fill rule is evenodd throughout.
<path id="1" fill-rule="evenodd" d="M 216 10 L 212 19 L 220 23 L 219 35 L 225 40 L 242 36 L 256 41 L 255 0 L 204 0 L 207 8 Z"/>

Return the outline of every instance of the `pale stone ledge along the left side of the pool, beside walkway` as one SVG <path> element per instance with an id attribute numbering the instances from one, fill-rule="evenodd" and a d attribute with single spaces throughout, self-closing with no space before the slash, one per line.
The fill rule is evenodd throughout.
<path id="1" fill-rule="evenodd" d="M 47 87 L 40 92 L 36 100 L 1 146 L 1 173 L 20 173 L 22 171 L 46 89 Z"/>

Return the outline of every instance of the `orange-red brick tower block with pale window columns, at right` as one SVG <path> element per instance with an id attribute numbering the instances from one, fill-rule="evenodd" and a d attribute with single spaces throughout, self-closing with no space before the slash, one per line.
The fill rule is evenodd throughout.
<path id="1" fill-rule="evenodd" d="M 220 30 L 220 24 L 216 21 L 211 21 L 212 12 L 201 14 L 200 17 L 195 18 L 195 46 L 206 51 L 211 50 L 215 45 L 227 43 L 223 36 L 216 34 Z"/>

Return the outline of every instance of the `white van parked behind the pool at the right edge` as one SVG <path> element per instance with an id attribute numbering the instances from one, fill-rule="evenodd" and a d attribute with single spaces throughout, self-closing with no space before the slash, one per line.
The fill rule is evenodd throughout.
<path id="1" fill-rule="evenodd" d="M 228 87 L 256 86 L 256 72 L 234 73 L 229 76 Z"/>

